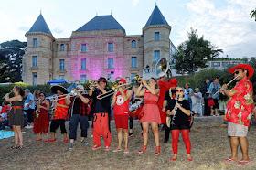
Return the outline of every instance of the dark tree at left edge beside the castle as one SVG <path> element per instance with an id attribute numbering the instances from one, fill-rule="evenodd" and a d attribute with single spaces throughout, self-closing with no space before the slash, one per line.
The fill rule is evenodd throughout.
<path id="1" fill-rule="evenodd" d="M 0 44 L 0 81 L 21 81 L 22 57 L 27 43 L 18 40 Z"/>

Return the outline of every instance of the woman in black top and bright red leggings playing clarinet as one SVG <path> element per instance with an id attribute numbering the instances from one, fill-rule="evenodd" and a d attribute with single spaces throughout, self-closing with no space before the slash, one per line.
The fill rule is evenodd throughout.
<path id="1" fill-rule="evenodd" d="M 188 116 L 190 112 L 190 103 L 185 99 L 185 92 L 182 87 L 176 88 L 176 98 L 172 99 L 167 106 L 167 115 L 173 115 L 171 133 L 173 136 L 173 151 L 174 156 L 171 157 L 172 161 L 175 161 L 177 158 L 177 146 L 178 146 L 178 136 L 181 131 L 183 141 L 186 145 L 187 150 L 187 161 L 192 161 L 191 158 L 191 143 L 189 140 L 189 122 Z"/>

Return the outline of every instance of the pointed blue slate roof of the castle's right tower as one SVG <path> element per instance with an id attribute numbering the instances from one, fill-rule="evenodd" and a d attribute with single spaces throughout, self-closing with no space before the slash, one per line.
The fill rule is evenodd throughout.
<path id="1" fill-rule="evenodd" d="M 165 20 L 165 16 L 162 15 L 161 11 L 155 5 L 154 11 L 152 12 L 151 16 L 147 20 L 144 27 L 152 26 L 152 25 L 168 25 L 167 21 Z"/>

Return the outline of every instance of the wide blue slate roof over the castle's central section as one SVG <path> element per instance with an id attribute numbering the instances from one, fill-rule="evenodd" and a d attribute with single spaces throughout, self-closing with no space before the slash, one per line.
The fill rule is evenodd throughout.
<path id="1" fill-rule="evenodd" d="M 122 29 L 124 28 L 110 16 L 95 16 L 88 23 L 77 29 L 76 31 L 94 31 L 94 30 L 109 30 L 109 29 Z"/>

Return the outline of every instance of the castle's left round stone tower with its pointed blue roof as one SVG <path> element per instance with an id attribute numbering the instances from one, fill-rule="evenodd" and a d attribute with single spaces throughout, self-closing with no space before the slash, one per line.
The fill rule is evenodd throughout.
<path id="1" fill-rule="evenodd" d="M 52 43 L 55 38 L 42 14 L 37 17 L 25 37 L 27 37 L 27 52 L 22 60 L 22 79 L 29 85 L 45 84 L 52 80 Z"/>

